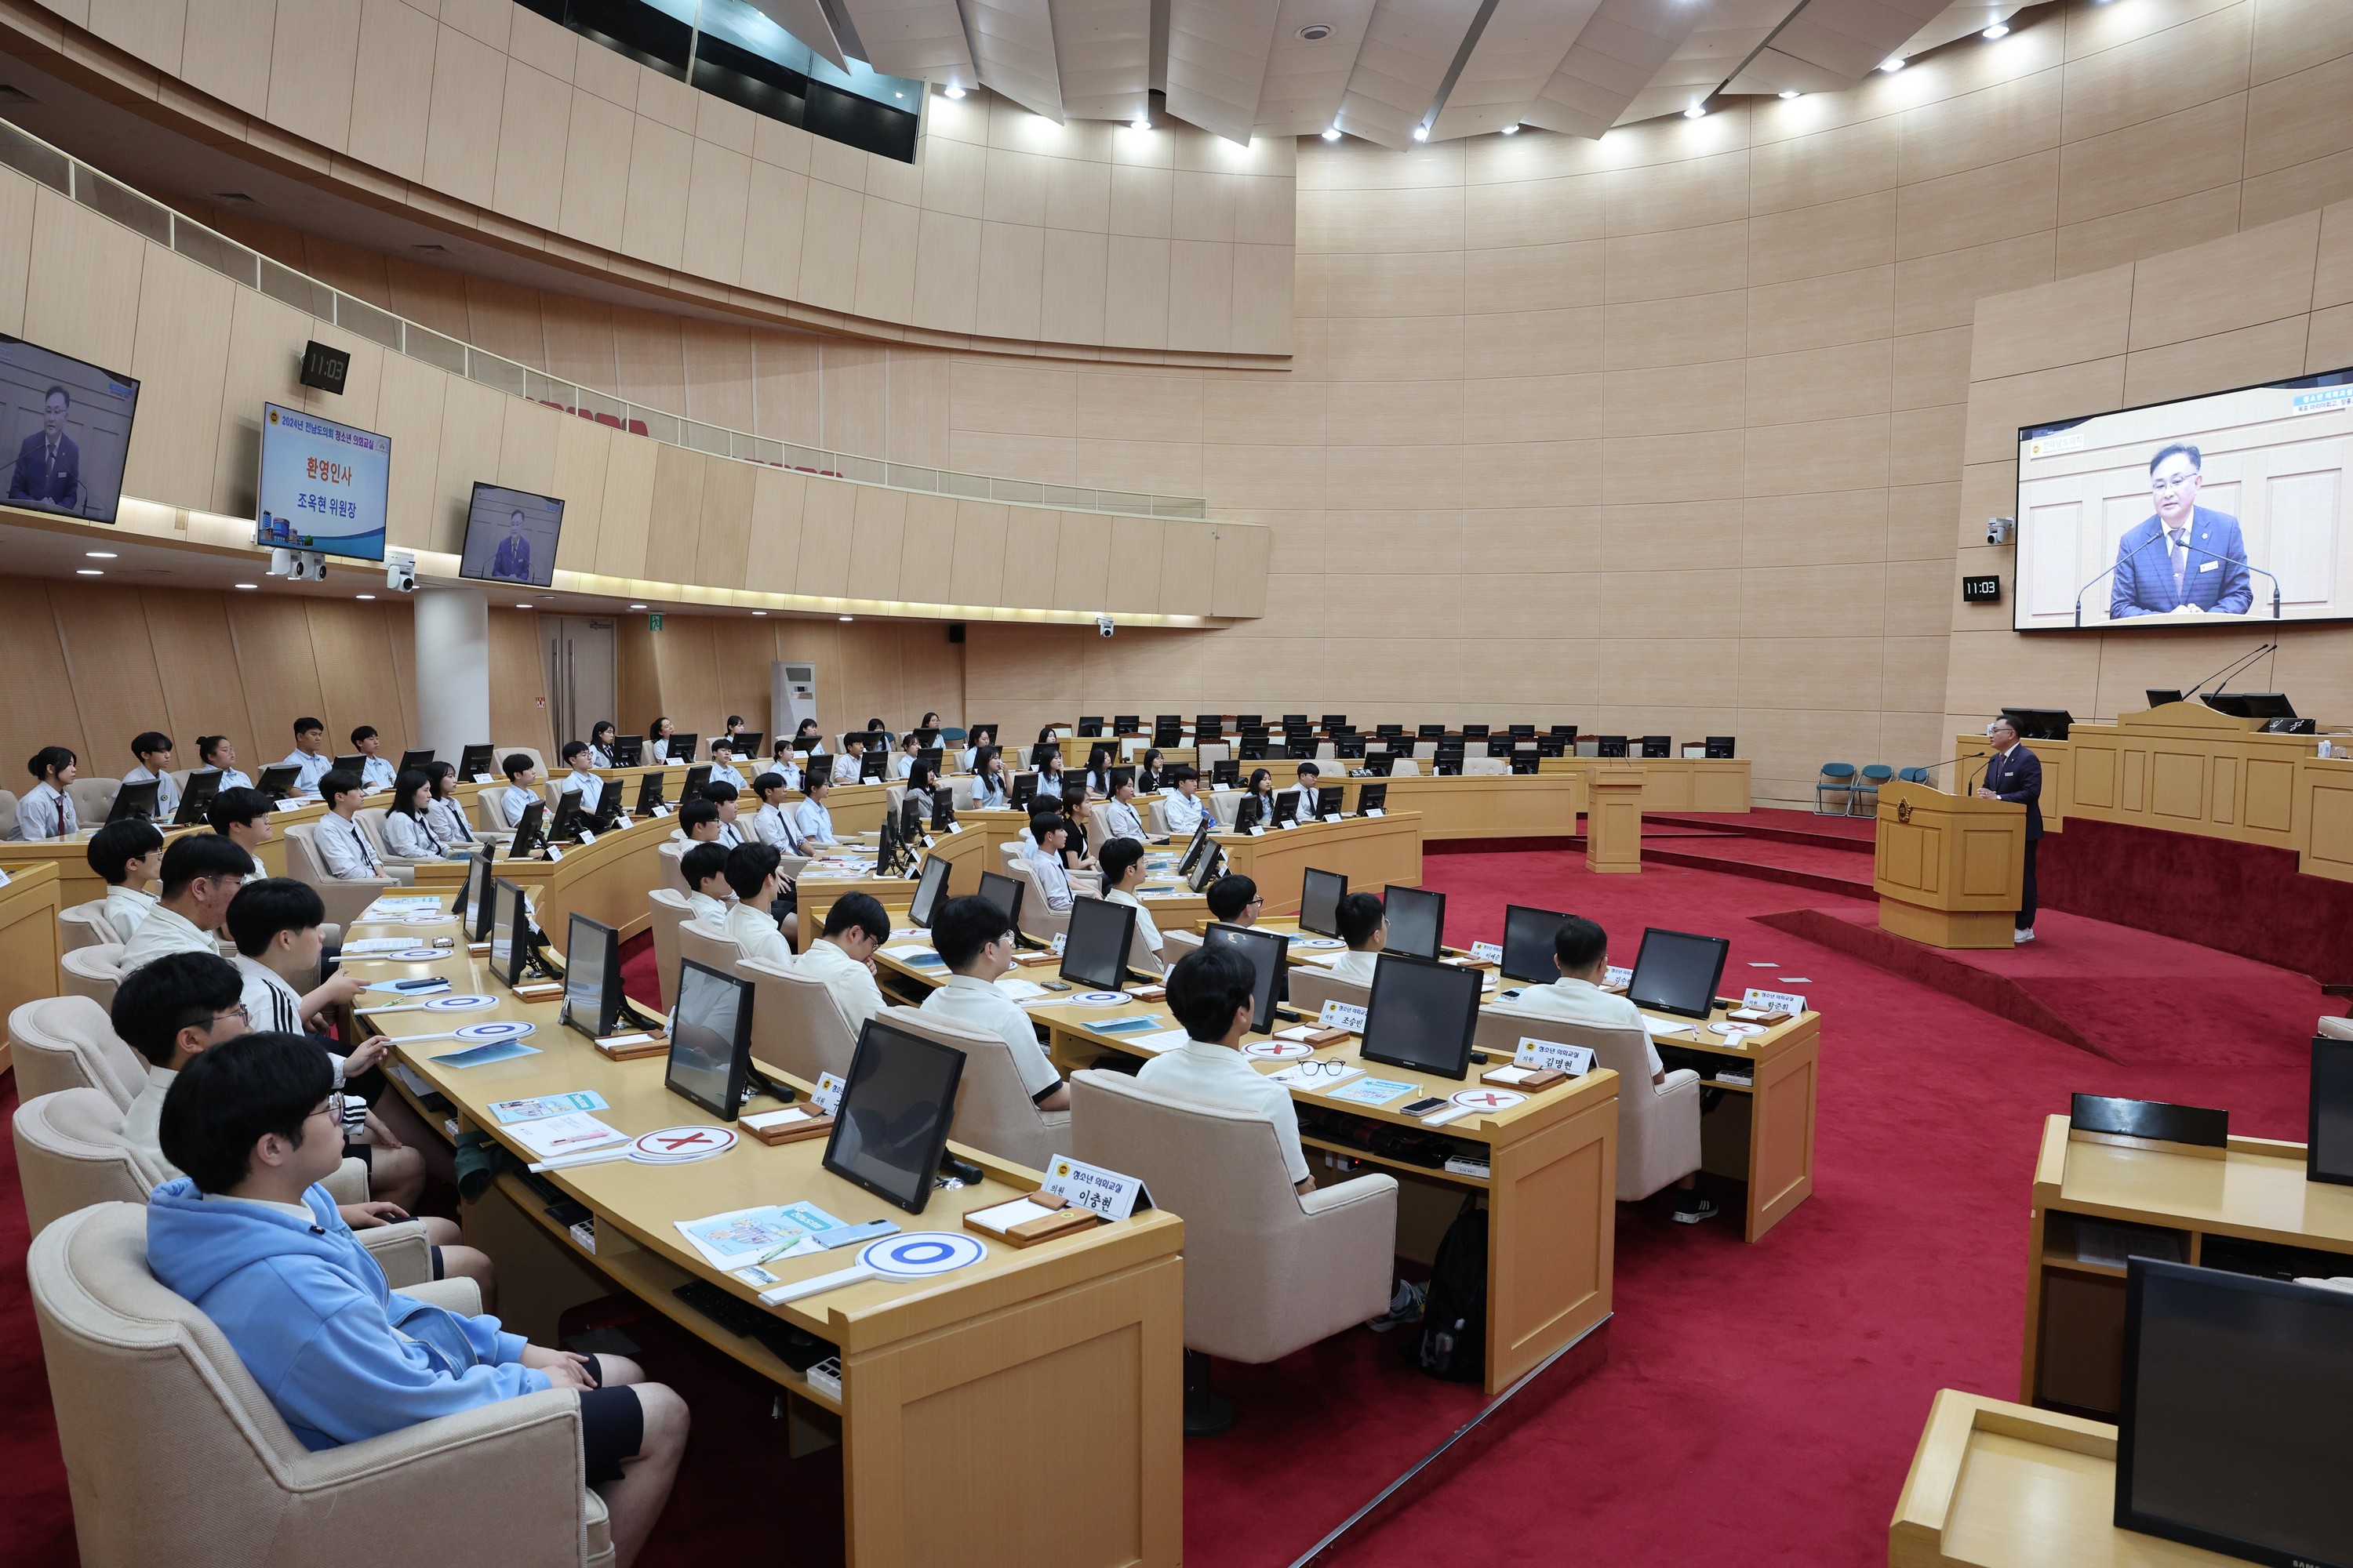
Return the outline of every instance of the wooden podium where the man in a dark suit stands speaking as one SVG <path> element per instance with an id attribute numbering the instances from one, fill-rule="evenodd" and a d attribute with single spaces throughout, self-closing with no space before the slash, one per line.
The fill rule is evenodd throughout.
<path id="1" fill-rule="evenodd" d="M 2024 884 L 2026 806 L 1920 783 L 1880 788 L 1871 886 L 1882 931 L 1929 947 L 2009 947 Z"/>

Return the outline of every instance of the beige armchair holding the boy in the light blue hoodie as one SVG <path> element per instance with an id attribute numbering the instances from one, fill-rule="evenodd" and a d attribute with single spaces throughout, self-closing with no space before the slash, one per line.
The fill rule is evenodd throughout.
<path id="1" fill-rule="evenodd" d="M 212 1319 L 148 1272 L 144 1206 L 49 1225 L 26 1274 L 82 1563 L 249 1568 L 256 1542 L 268 1561 L 365 1542 L 416 1563 L 461 1542 L 506 1568 L 612 1568 L 572 1389 L 308 1453 Z"/>

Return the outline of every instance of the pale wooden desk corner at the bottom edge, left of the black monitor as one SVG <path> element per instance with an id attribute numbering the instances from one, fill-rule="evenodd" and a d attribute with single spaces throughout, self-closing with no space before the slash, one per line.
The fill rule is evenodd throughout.
<path id="1" fill-rule="evenodd" d="M 1939 1389 L 1887 1523 L 1889 1568 L 2226 1568 L 2115 1526 L 2115 1427 Z"/>

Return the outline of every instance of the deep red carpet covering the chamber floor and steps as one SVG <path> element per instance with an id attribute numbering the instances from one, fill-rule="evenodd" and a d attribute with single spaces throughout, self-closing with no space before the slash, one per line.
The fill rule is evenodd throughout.
<path id="1" fill-rule="evenodd" d="M 2132 1093 L 2228 1105 L 2233 1131 L 2259 1138 L 2304 1135 L 2304 1041 L 2322 1006 L 2297 973 L 2052 919 L 2045 943 L 2005 954 L 2005 973 L 2075 1027 L 2113 1013 L 2101 1044 L 2122 1060 L 2101 1060 L 1755 919 L 1798 905 L 1868 919 L 1861 900 L 1668 865 L 1588 877 L 1584 856 L 1558 849 L 1431 856 L 1426 872 L 1449 893 L 1452 943 L 1497 940 L 1506 900 L 1600 919 L 1619 959 L 1645 924 L 1729 936 L 1727 990 L 1772 983 L 1826 1013 L 1819 1164 L 1814 1199 L 1758 1246 L 1722 1222 L 1621 1208 L 1607 1361 L 1508 1408 L 1506 1441 L 1442 1465 L 1409 1507 L 1344 1540 L 1327 1561 L 1348 1568 L 1882 1563 L 1934 1389 L 2017 1394 L 2042 1117 L 2071 1091 Z M 647 964 L 624 957 L 633 994 L 647 994 Z M 0 1561 L 68 1563 L 21 1258 L 24 1206 L 0 1157 Z M 779 1462 L 767 1401 L 729 1389 L 725 1366 L 706 1382 L 694 1347 L 666 1342 L 685 1335 L 628 1333 L 689 1387 L 689 1467 L 711 1465 L 647 1563 L 751 1544 L 701 1523 L 729 1488 L 838 1488 L 838 1455 Z M 1478 1408 L 1473 1389 L 1405 1375 L 1391 1356 L 1353 1333 L 1271 1368 L 1217 1368 L 1245 1415 L 1186 1448 L 1188 1561 L 1282 1568 Z M 838 1523 L 812 1512 L 795 1561 L 833 1561 Z"/>

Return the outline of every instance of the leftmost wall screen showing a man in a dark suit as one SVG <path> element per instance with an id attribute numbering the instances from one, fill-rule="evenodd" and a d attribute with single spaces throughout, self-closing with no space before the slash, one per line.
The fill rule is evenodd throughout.
<path id="1" fill-rule="evenodd" d="M 0 411 L 14 468 L 7 503 L 113 522 L 139 383 L 0 334 Z"/>

